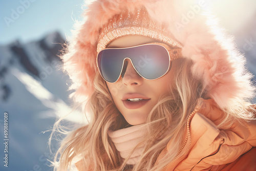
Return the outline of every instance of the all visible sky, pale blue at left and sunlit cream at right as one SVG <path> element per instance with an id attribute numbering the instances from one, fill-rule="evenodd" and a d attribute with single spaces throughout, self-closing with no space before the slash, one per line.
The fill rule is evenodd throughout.
<path id="1" fill-rule="evenodd" d="M 30 5 L 26 8 L 21 2 L 30 2 Z M 231 33 L 243 27 L 247 19 L 256 14 L 255 0 L 211 2 L 216 15 L 220 17 L 221 25 Z M 37 40 L 56 30 L 64 38 L 65 34 L 70 36 L 73 19 L 81 19 L 82 4 L 83 0 L 0 0 L 0 45 L 16 39 L 22 42 Z M 5 19 L 12 19 L 13 11 L 19 11 L 20 14 L 8 27 Z"/>

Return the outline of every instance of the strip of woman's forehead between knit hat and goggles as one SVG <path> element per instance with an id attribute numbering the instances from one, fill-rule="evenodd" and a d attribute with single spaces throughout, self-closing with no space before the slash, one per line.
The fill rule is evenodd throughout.
<path id="1" fill-rule="evenodd" d="M 142 44 L 147 44 L 150 42 L 158 42 L 158 40 L 151 37 L 139 36 L 139 35 L 127 35 L 119 37 L 110 42 L 107 48 L 125 48 L 132 47 Z"/>

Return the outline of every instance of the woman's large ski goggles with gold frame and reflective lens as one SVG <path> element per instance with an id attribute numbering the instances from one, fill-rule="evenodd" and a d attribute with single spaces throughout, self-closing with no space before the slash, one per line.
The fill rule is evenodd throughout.
<path id="1" fill-rule="evenodd" d="M 127 60 L 137 73 L 148 80 L 164 76 L 172 68 L 172 60 L 181 57 L 181 49 L 171 49 L 163 43 L 154 42 L 128 48 L 106 48 L 97 55 L 97 67 L 101 77 L 108 82 L 116 82 L 123 77 Z"/>

